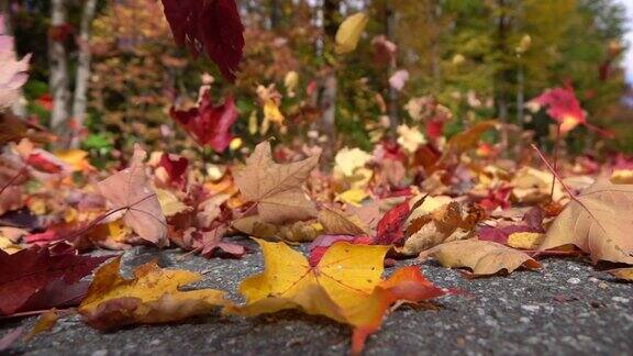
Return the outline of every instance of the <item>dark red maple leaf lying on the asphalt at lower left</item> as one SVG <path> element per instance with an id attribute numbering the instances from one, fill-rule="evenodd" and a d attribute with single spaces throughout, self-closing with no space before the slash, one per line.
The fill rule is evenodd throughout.
<path id="1" fill-rule="evenodd" d="M 41 247 L 0 251 L 0 315 L 78 303 L 88 289 L 80 279 L 110 257 Z"/>

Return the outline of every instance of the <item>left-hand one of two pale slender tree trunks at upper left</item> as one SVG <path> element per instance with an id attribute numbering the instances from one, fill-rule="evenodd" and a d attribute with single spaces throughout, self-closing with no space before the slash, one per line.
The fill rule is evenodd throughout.
<path id="1" fill-rule="evenodd" d="M 66 23 L 66 4 L 65 0 L 52 0 L 51 7 L 51 25 L 53 29 Z M 70 91 L 68 89 L 68 57 L 64 43 L 59 38 L 48 37 L 49 60 L 51 60 L 51 79 L 49 87 L 53 93 L 53 112 L 51 113 L 51 127 L 53 132 L 59 135 L 60 144 L 68 145 L 69 114 L 68 100 Z"/>

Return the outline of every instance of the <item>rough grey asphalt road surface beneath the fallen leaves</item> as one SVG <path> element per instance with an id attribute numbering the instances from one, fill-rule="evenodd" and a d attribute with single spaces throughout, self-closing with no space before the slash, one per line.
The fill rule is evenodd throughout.
<path id="1" fill-rule="evenodd" d="M 206 259 L 166 252 L 169 268 L 204 272 L 196 287 L 235 291 L 238 282 L 263 269 L 257 248 L 243 259 Z M 125 253 L 124 271 L 156 257 L 153 249 Z M 366 355 L 633 355 L 633 283 L 615 281 L 585 258 L 548 258 L 541 271 L 464 279 L 434 263 L 421 266 L 440 287 L 465 294 L 437 299 L 425 308 L 403 307 L 370 336 Z M 400 263 L 400 264 L 407 264 Z M 237 299 L 238 300 L 238 299 Z M 35 318 L 3 321 L 29 330 Z M 285 311 L 254 319 L 210 315 L 185 324 L 134 326 L 100 333 L 78 316 L 12 355 L 345 355 L 349 329 L 325 318 Z"/>

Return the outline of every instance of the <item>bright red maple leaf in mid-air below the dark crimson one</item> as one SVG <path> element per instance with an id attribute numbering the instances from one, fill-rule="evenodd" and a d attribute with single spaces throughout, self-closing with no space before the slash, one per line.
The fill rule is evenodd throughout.
<path id="1" fill-rule="evenodd" d="M 178 122 L 201 146 L 210 146 L 218 153 L 224 152 L 233 136 L 231 126 L 237 120 L 237 109 L 233 97 L 226 97 L 224 103 L 214 107 L 211 94 L 206 91 L 198 108 L 187 111 L 169 112 L 171 119 Z"/>

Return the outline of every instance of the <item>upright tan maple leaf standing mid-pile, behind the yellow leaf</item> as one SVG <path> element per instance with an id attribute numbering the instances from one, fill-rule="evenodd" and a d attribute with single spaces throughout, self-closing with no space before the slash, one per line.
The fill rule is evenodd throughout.
<path id="1" fill-rule="evenodd" d="M 301 185 L 316 167 L 319 156 L 286 165 L 273 160 L 270 143 L 263 142 L 235 174 L 235 183 L 244 197 L 257 203 L 265 222 L 284 223 L 316 215 L 314 203 L 306 198 Z"/>

